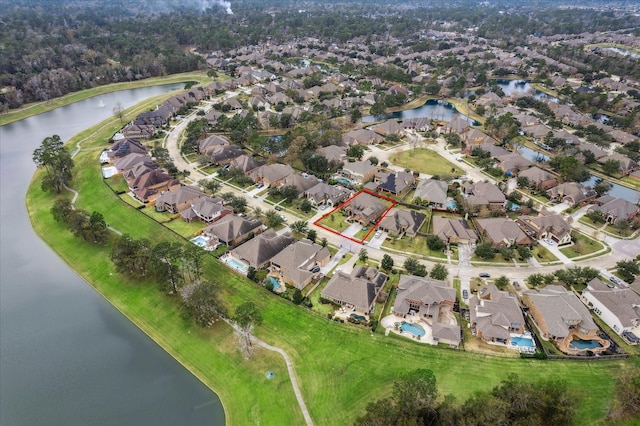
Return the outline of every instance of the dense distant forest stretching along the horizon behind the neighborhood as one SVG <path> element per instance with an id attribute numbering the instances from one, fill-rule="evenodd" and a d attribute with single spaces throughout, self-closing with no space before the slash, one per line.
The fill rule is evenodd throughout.
<path id="1" fill-rule="evenodd" d="M 511 5 L 512 13 L 499 14 L 466 1 L 399 8 L 382 1 L 364 7 L 344 1 L 0 0 L 0 7 L 0 112 L 98 85 L 202 69 L 204 59 L 194 48 L 228 51 L 301 37 L 372 43 L 392 36 L 424 50 L 430 43 L 418 34 L 428 30 L 464 34 L 477 27 L 481 36 L 518 45 L 534 33 L 640 27 L 628 13 Z"/>

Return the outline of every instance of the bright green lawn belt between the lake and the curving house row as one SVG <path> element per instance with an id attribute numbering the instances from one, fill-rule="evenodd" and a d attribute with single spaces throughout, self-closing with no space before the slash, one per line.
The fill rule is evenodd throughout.
<path id="1" fill-rule="evenodd" d="M 116 123 L 103 124 L 100 143 Z M 88 130 L 92 134 L 96 130 Z M 80 138 L 86 137 L 81 135 Z M 77 139 L 72 143 L 75 144 Z M 89 141 L 84 148 L 91 148 Z M 81 151 L 75 159 L 73 187 L 80 191 L 78 207 L 101 212 L 107 223 L 135 238 L 179 240 L 173 232 L 120 201 L 102 183 L 94 153 Z M 235 348 L 231 329 L 217 323 L 203 330 L 185 320 L 175 299 L 151 283 L 119 276 L 108 259 L 109 247 L 94 247 L 74 237 L 51 217 L 50 194 L 34 179 L 27 206 L 36 232 L 117 309 L 220 396 L 228 424 L 302 424 L 302 415 L 282 359 L 258 351 L 245 361 Z M 577 424 L 595 424 L 607 413 L 614 378 L 638 368 L 637 360 L 566 362 L 504 359 L 449 351 L 385 337 L 361 328 L 332 322 L 272 295 L 233 274 L 207 256 L 205 275 L 218 282 L 229 310 L 250 300 L 264 323 L 257 335 L 283 348 L 292 358 L 296 376 L 317 425 L 349 424 L 372 400 L 388 395 L 398 375 L 426 366 L 434 371 L 441 395 L 458 401 L 476 391 L 488 391 L 508 373 L 525 380 L 562 379 L 579 400 Z M 469 366 L 476 368 L 469 368 Z M 274 380 L 265 378 L 273 370 Z"/>

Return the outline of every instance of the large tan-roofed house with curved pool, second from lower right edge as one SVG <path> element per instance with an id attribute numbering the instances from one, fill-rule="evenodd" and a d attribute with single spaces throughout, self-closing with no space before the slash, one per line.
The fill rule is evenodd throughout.
<path id="1" fill-rule="evenodd" d="M 598 326 L 589 310 L 564 287 L 549 285 L 538 291 L 528 290 L 522 301 L 544 339 L 561 344 L 574 335 L 585 340 L 597 337 Z"/>

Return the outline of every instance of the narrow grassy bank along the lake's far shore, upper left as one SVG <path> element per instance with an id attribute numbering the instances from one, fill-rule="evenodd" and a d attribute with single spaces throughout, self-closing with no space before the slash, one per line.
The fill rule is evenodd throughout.
<path id="1" fill-rule="evenodd" d="M 171 84 L 195 81 L 200 84 L 208 84 L 211 82 L 211 78 L 207 77 L 204 72 L 189 72 L 183 74 L 174 74 L 164 77 L 148 78 L 142 81 L 132 81 L 126 83 L 114 83 L 106 86 L 98 86 L 92 89 L 83 90 L 80 92 L 69 93 L 60 98 L 53 99 L 48 102 L 36 102 L 26 105 L 20 109 L 13 110 L 8 114 L 0 116 L 0 126 L 13 123 L 14 121 L 22 120 L 32 115 L 42 114 L 43 112 L 51 111 L 52 109 L 59 108 L 61 106 L 69 105 L 74 102 L 81 101 L 83 99 L 91 98 L 93 96 L 101 95 L 103 93 L 116 92 L 118 90 L 134 89 L 138 87 L 157 86 L 160 84 Z"/>

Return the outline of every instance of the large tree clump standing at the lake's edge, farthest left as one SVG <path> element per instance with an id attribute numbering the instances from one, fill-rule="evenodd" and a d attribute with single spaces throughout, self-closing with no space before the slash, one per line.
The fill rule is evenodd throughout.
<path id="1" fill-rule="evenodd" d="M 42 179 L 42 190 L 53 190 L 59 194 L 71 182 L 73 159 L 62 143 L 60 136 L 44 138 L 38 148 L 33 151 L 33 162 L 38 168 L 45 169 Z"/>

